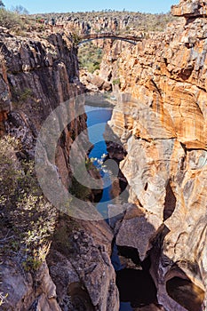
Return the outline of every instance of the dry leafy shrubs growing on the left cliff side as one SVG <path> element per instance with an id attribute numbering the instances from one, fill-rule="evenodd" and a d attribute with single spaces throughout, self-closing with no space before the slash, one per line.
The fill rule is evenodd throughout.
<path id="1" fill-rule="evenodd" d="M 20 161 L 17 140 L 0 140 L 0 240 L 2 256 L 17 256 L 22 267 L 36 270 L 50 246 L 56 210 L 36 180 L 33 161 Z"/>

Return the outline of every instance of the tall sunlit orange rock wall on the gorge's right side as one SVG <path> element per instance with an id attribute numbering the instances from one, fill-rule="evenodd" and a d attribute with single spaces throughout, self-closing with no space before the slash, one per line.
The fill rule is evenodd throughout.
<path id="1" fill-rule="evenodd" d="M 138 210 L 126 211 L 116 242 L 137 248 L 141 259 L 154 250 L 152 274 L 167 310 L 200 310 L 207 287 L 206 6 L 180 1 L 172 13 L 181 17 L 164 33 L 136 47 L 114 44 L 100 69 L 119 80 L 109 125 L 126 148 L 121 170 Z M 172 292 L 179 278 L 201 291 Z"/>

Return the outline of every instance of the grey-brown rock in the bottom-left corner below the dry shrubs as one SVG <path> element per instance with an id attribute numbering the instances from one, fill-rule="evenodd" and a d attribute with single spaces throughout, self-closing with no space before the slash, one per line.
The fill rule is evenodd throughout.
<path id="1" fill-rule="evenodd" d="M 46 263 L 36 275 L 36 283 L 39 284 L 37 291 L 33 288 L 32 275 L 27 274 L 25 277 L 17 261 L 7 259 L 1 264 L 1 271 L 1 290 L 5 289 L 8 292 L 3 310 L 28 310 L 28 307 L 31 307 L 31 310 L 61 310 L 56 300 L 56 286 L 52 282 Z M 10 295 L 12 297 L 9 297 Z"/>

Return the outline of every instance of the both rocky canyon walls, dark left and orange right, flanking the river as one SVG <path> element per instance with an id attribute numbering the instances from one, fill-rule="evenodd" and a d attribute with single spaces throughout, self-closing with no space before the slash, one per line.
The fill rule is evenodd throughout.
<path id="1" fill-rule="evenodd" d="M 151 263 L 157 303 L 134 310 L 206 310 L 206 9 L 206 1 L 180 0 L 171 7 L 177 18 L 163 32 L 149 32 L 135 46 L 119 41 L 103 46 L 98 76 L 96 81 L 91 76 L 90 84 L 113 88 L 116 100 L 106 140 L 113 133 L 122 147 L 108 143 L 107 151 L 119 163 L 129 190 L 127 203 L 108 205 L 109 226 L 104 219 L 72 219 L 37 200 L 38 227 L 51 232 L 49 242 L 36 244 L 41 264 L 34 268 L 34 252 L 29 253 L 31 265 L 28 244 L 19 235 L 21 230 L 30 236 L 36 224 L 27 225 L 25 201 L 12 205 L 13 198 L 10 202 L 0 187 L 1 196 L 7 195 L 0 202 L 3 310 L 119 310 L 113 243 L 128 253 L 123 260 L 130 268 L 139 266 L 130 263 L 131 249 L 139 263 Z M 46 35 L 12 36 L 1 28 L 1 140 L 7 134 L 21 145 L 18 152 L 8 141 L 2 145 L 0 161 L 10 159 L 1 162 L 4 185 L 7 179 L 12 185 L 8 167 L 27 176 L 22 161 L 33 161 L 38 132 L 53 109 L 69 99 L 69 114 L 76 116 L 76 98 L 82 99 L 85 87 L 65 23 L 64 31 Z M 78 27 L 83 29 L 83 23 Z M 84 111 L 84 100 L 78 105 Z M 67 188 L 70 148 L 86 129 L 83 113 L 58 141 L 52 172 Z M 47 155 L 44 161 L 50 166 Z M 25 227 L 20 221 L 26 221 Z"/>

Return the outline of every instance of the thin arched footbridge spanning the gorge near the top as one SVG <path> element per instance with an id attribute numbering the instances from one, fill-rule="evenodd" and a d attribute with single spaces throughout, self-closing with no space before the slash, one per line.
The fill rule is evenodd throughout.
<path id="1" fill-rule="evenodd" d="M 138 42 L 143 40 L 143 36 L 127 36 L 127 35 L 120 36 L 120 35 L 115 35 L 113 33 L 88 34 L 88 35 L 80 36 L 78 45 L 84 44 L 92 40 L 99 40 L 99 39 L 122 40 L 130 44 L 136 45 Z"/>

